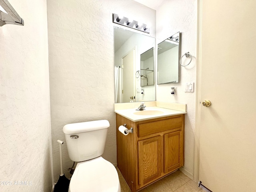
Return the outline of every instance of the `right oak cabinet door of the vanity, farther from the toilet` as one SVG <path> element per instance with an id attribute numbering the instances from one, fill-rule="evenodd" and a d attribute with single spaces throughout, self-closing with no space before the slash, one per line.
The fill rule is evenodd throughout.
<path id="1" fill-rule="evenodd" d="M 183 166 L 183 136 L 181 131 L 164 135 L 164 173 Z"/>

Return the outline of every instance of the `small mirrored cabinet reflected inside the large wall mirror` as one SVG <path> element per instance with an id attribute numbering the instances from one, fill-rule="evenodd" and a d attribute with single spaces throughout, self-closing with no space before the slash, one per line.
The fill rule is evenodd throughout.
<path id="1" fill-rule="evenodd" d="M 154 48 L 140 55 L 140 86 L 154 85 Z"/>

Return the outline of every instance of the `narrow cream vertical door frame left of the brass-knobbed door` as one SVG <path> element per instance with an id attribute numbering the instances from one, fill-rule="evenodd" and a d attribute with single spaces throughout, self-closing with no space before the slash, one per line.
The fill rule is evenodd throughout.
<path id="1" fill-rule="evenodd" d="M 196 72 L 196 118 L 195 118 L 195 146 L 194 146 L 194 178 L 199 181 L 199 154 L 200 154 L 200 95 L 202 69 L 202 0 L 197 1 L 197 72 Z"/>

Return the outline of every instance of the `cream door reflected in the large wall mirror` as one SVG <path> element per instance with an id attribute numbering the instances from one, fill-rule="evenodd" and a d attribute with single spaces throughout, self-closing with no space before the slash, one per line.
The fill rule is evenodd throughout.
<path id="1" fill-rule="evenodd" d="M 122 58 L 122 72 L 123 102 L 134 101 L 134 49 Z"/>

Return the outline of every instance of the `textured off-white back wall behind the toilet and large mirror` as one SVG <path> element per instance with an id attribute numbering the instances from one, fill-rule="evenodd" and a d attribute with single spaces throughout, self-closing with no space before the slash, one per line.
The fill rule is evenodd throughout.
<path id="1" fill-rule="evenodd" d="M 155 26 L 156 11 L 133 0 L 50 0 L 48 41 L 54 180 L 60 173 L 59 148 L 65 124 L 107 119 L 106 160 L 116 163 L 114 42 L 112 13 Z M 151 28 L 155 35 L 155 28 Z M 72 161 L 63 146 L 64 173 Z"/>

